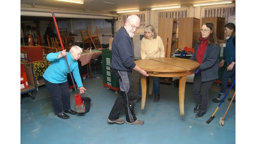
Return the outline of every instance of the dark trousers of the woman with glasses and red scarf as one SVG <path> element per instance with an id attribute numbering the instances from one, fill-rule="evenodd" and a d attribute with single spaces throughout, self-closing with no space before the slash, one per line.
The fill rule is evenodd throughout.
<path id="1" fill-rule="evenodd" d="M 201 109 L 206 111 L 209 101 L 209 90 L 211 88 L 212 81 L 202 82 L 202 75 L 198 72 L 193 79 L 193 95 L 196 98 L 197 104 L 202 104 Z"/>

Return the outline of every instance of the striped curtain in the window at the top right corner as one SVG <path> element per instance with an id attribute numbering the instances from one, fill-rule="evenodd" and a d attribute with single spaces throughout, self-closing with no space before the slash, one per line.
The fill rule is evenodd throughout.
<path id="1" fill-rule="evenodd" d="M 205 8 L 205 17 L 225 17 L 226 23 L 228 17 L 236 15 L 236 7 L 223 7 L 223 8 Z"/>

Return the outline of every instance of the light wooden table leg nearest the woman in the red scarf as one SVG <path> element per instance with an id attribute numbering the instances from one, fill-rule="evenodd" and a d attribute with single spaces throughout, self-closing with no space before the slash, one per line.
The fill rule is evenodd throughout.
<path id="1" fill-rule="evenodd" d="M 184 115 L 184 93 L 185 93 L 185 86 L 186 86 L 186 79 L 187 76 L 180 77 L 179 81 L 179 105 L 180 105 L 180 115 Z"/>

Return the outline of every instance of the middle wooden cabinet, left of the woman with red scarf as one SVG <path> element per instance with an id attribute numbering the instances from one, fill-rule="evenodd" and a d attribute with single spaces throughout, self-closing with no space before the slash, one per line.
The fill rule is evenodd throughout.
<path id="1" fill-rule="evenodd" d="M 200 19 L 195 17 L 179 18 L 178 47 L 195 47 L 200 36 Z"/>

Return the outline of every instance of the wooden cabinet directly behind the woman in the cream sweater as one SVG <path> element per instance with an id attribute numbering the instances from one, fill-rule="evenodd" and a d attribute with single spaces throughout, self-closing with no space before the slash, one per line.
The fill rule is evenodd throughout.
<path id="1" fill-rule="evenodd" d="M 177 19 L 173 18 L 159 18 L 158 19 L 158 33 L 164 43 L 164 51 L 166 53 L 167 48 L 167 58 L 172 56 L 175 51 L 177 33 Z M 167 40 L 168 39 L 168 40 Z"/>

